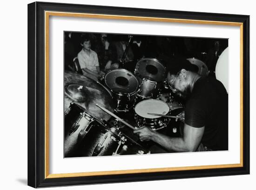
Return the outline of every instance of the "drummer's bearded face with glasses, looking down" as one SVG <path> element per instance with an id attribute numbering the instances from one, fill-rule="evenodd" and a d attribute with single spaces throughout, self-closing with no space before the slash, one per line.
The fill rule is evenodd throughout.
<path id="1" fill-rule="evenodd" d="M 169 88 L 181 98 L 186 98 L 190 94 L 187 74 L 188 72 L 185 69 L 182 69 L 176 75 L 170 74 L 169 72 L 167 74 Z"/>

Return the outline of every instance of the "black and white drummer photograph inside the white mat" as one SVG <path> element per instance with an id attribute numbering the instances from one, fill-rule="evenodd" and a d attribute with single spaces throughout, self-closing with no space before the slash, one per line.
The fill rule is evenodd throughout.
<path id="1" fill-rule="evenodd" d="M 229 150 L 229 39 L 64 31 L 64 157 Z"/>

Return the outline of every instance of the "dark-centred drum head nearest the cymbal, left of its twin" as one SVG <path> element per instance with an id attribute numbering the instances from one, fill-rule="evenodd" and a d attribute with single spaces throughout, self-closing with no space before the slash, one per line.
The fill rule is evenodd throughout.
<path id="1" fill-rule="evenodd" d="M 139 88 L 138 79 L 125 69 L 109 71 L 105 75 L 105 83 L 115 93 L 132 94 Z"/>

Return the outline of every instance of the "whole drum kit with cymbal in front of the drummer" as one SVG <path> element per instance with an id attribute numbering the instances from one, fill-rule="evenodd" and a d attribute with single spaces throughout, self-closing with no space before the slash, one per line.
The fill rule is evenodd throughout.
<path id="1" fill-rule="evenodd" d="M 153 58 L 140 59 L 134 72 L 111 70 L 101 82 L 66 71 L 65 157 L 150 153 L 122 128 L 161 131 L 175 123 L 183 106 L 166 92 L 165 79 L 166 67 Z"/>

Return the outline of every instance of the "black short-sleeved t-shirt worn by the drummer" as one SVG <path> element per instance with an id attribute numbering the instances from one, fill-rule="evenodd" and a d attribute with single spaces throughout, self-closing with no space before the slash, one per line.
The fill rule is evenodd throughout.
<path id="1" fill-rule="evenodd" d="M 201 77 L 186 102 L 185 123 L 203 127 L 202 144 L 214 151 L 228 150 L 228 94 L 222 83 Z"/>

